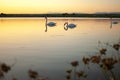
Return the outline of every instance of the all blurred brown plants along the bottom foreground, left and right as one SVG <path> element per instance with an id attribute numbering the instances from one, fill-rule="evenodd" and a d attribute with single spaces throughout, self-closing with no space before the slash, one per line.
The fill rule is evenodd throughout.
<path id="1" fill-rule="evenodd" d="M 80 61 L 70 62 L 72 68 L 66 70 L 64 80 L 90 80 L 88 77 L 94 68 L 97 68 L 99 73 L 102 74 L 98 80 L 120 80 L 120 41 L 114 44 L 99 41 L 98 45 L 97 53 L 86 55 Z M 0 80 L 6 80 L 6 74 L 14 65 L 10 66 L 4 62 L 0 63 Z M 81 65 L 84 66 L 84 69 L 80 68 Z M 29 80 L 49 80 L 47 77 L 41 77 L 37 71 L 32 69 L 28 69 L 27 73 Z M 95 76 L 92 77 L 94 79 Z M 9 80 L 20 79 L 11 77 Z"/>

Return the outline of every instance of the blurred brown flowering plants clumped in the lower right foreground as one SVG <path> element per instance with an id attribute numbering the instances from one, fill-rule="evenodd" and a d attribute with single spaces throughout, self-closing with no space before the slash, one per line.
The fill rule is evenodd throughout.
<path id="1" fill-rule="evenodd" d="M 72 68 L 66 70 L 66 80 L 91 80 L 91 74 L 92 80 L 96 80 L 95 77 L 98 77 L 97 80 L 120 80 L 120 41 L 115 44 L 99 41 L 98 44 L 97 53 L 70 63 Z M 81 65 L 84 69 L 80 68 Z M 102 76 L 95 76 L 98 73 Z"/>

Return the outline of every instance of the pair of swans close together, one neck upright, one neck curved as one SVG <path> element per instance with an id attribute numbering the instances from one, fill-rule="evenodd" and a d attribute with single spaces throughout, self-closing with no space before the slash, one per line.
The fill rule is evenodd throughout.
<path id="1" fill-rule="evenodd" d="M 47 32 L 47 26 L 49 26 L 49 27 L 54 27 L 54 26 L 56 26 L 56 23 L 55 22 L 47 22 L 47 17 L 45 17 L 45 19 L 46 19 L 46 30 L 45 30 L 45 32 Z M 76 27 L 76 24 L 73 24 L 73 23 L 68 23 L 68 22 L 65 22 L 64 23 L 64 29 L 65 30 L 68 30 L 68 28 L 70 28 L 70 29 L 73 29 L 73 28 L 75 28 Z"/>

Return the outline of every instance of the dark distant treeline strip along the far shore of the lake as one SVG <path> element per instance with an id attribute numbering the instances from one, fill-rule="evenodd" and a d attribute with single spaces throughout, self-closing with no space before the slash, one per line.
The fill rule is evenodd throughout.
<path id="1" fill-rule="evenodd" d="M 4 14 L 0 17 L 97 17 L 97 18 L 120 18 L 120 14 L 77 14 L 77 13 L 63 13 L 63 14 Z"/>

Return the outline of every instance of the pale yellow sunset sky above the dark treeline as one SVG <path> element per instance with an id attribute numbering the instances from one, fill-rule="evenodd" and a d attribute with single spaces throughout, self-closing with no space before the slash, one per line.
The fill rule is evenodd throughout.
<path id="1" fill-rule="evenodd" d="M 0 13 L 120 12 L 120 0 L 0 0 Z"/>

